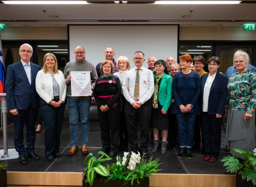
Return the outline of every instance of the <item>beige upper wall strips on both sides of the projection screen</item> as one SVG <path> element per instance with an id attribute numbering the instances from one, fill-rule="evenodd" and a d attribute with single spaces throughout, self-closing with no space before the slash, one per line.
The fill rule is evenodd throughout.
<path id="1" fill-rule="evenodd" d="M 67 27 L 6 27 L 2 40 L 67 40 Z M 180 40 L 256 40 L 240 27 L 180 27 Z"/>

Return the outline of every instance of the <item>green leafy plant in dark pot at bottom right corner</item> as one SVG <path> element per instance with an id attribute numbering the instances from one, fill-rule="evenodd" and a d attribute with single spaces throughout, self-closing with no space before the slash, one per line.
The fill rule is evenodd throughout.
<path id="1" fill-rule="evenodd" d="M 227 172 L 237 173 L 237 186 L 255 186 L 256 185 L 256 148 L 250 151 L 243 151 L 234 148 L 235 152 L 243 155 L 243 159 L 238 156 L 224 156 L 221 162 L 225 162 Z M 245 180 L 246 178 L 246 180 Z"/>

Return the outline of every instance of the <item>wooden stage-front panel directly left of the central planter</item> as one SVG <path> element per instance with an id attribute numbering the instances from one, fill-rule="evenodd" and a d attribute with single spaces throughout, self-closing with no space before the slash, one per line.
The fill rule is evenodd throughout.
<path id="1" fill-rule="evenodd" d="M 52 173 L 46 172 L 45 185 L 82 186 L 82 173 Z"/>

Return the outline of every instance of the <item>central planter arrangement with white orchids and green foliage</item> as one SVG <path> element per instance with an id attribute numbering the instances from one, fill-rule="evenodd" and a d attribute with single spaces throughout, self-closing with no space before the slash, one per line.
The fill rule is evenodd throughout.
<path id="1" fill-rule="evenodd" d="M 101 151 L 99 152 L 99 154 Z M 88 155 L 89 156 L 89 155 Z M 105 155 L 106 158 L 104 162 L 107 162 L 111 158 L 108 155 Z M 95 158 L 96 159 L 96 158 Z M 95 160 L 91 158 L 90 160 Z M 100 158 L 101 159 L 101 158 Z M 151 180 L 150 175 L 152 173 L 158 172 L 161 169 L 157 169 L 159 167 L 159 158 L 156 160 L 151 159 L 146 162 L 146 159 L 141 158 L 141 155 L 135 154 L 134 152 L 125 152 L 123 158 L 121 159 L 120 156 L 117 156 L 117 163 L 114 164 L 104 164 L 104 168 L 101 168 L 101 172 L 97 172 L 98 179 L 100 180 L 88 180 L 88 167 L 90 164 L 90 160 L 86 162 L 85 158 L 85 172 L 84 172 L 84 179 L 83 186 L 88 186 L 88 183 L 91 186 L 149 186 L 149 180 Z M 97 160 L 97 159 L 96 159 Z M 94 161 L 93 161 L 94 162 Z M 103 164 L 101 162 L 101 164 Z M 91 167 L 92 168 L 92 167 Z M 106 171 L 107 169 L 107 171 Z M 104 175 L 101 175 L 103 173 Z M 92 181 L 90 183 L 90 181 Z M 94 181 L 94 183 L 93 183 Z M 130 182 L 129 182 L 130 181 Z M 137 181 L 135 184 L 134 181 Z M 86 183 L 88 182 L 88 183 Z"/>

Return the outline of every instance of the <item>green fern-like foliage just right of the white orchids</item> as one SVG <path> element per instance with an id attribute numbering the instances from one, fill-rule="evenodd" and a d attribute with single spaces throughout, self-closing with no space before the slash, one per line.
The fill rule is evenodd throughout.
<path id="1" fill-rule="evenodd" d="M 137 183 L 139 185 L 139 180 L 145 180 L 150 179 L 151 180 L 151 174 L 156 173 L 162 169 L 157 169 L 160 164 L 159 158 L 152 160 L 152 156 L 148 163 L 146 162 L 146 159 L 141 159 L 141 163 L 137 163 L 135 166 L 135 169 L 133 171 L 130 171 L 125 179 L 125 184 L 127 184 L 129 181 L 131 181 L 131 185 L 133 185 L 134 180 L 137 180 Z"/>

